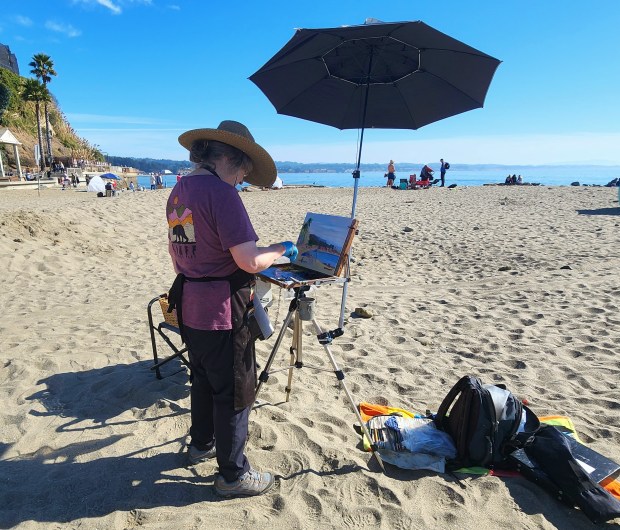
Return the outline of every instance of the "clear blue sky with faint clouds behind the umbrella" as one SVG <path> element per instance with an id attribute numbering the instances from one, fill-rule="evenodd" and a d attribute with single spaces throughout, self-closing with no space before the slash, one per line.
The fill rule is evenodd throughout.
<path id="1" fill-rule="evenodd" d="M 278 161 L 351 162 L 358 132 L 281 116 L 248 80 L 295 28 L 422 20 L 502 61 L 485 106 L 368 130 L 363 163 L 620 164 L 620 1 L 2 0 L 0 42 L 111 155 L 187 159 L 177 137 L 245 123 Z"/>

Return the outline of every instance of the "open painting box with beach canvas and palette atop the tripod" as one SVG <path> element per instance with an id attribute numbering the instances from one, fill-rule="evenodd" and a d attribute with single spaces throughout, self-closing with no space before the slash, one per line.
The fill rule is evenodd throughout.
<path id="1" fill-rule="evenodd" d="M 308 212 L 297 238 L 294 262 L 272 265 L 258 276 L 287 289 L 319 283 L 344 282 L 358 222 L 350 217 Z"/>

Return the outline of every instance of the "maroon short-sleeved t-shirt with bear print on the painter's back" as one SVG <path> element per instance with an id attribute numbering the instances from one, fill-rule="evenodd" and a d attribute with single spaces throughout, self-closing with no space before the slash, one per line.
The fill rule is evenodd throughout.
<path id="1" fill-rule="evenodd" d="M 229 249 L 258 241 L 239 192 L 205 169 L 177 182 L 166 216 L 174 270 L 189 278 L 232 274 L 238 267 Z M 231 329 L 228 281 L 186 282 L 183 323 L 194 329 Z"/>

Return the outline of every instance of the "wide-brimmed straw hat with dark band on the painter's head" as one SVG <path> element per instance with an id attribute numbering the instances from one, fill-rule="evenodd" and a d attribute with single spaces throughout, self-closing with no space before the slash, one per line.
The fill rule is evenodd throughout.
<path id="1" fill-rule="evenodd" d="M 277 176 L 276 164 L 269 153 L 254 141 L 248 128 L 238 121 L 224 120 L 217 129 L 192 129 L 179 136 L 188 151 L 196 140 L 216 140 L 243 151 L 252 160 L 252 171 L 243 179 L 249 184 L 271 187 Z"/>

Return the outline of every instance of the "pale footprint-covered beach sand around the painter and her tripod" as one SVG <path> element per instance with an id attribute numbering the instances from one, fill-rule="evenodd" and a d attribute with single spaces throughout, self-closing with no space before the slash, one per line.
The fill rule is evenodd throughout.
<path id="1" fill-rule="evenodd" d="M 592 527 L 520 477 L 465 477 L 462 488 L 429 471 L 381 473 L 335 376 L 307 368 L 288 403 L 285 373 L 272 375 L 251 416 L 248 456 L 277 474 L 274 490 L 217 498 L 214 463 L 185 467 L 187 375 L 149 370 L 146 306 L 174 278 L 168 194 L 0 193 L 0 527 Z M 242 198 L 268 244 L 296 237 L 307 211 L 350 215 L 352 189 Z M 436 410 L 477 375 L 538 415 L 570 416 L 620 461 L 615 189 L 361 189 L 357 214 L 347 325 L 332 344 L 356 402 Z M 325 329 L 337 327 L 341 293 L 313 293 Z M 279 331 L 288 302 L 273 294 Z M 274 368 L 290 341 L 287 331 Z M 272 345 L 258 343 L 259 362 Z M 310 326 L 304 357 L 328 365 Z"/>

